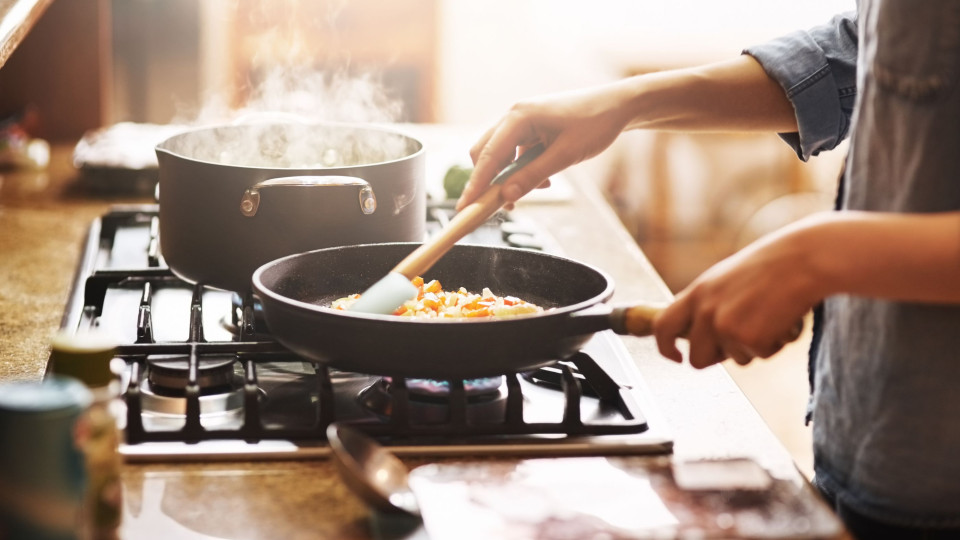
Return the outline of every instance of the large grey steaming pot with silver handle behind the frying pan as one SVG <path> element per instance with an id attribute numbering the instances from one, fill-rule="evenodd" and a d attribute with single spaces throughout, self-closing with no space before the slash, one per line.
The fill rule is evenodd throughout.
<path id="1" fill-rule="evenodd" d="M 423 240 L 423 144 L 390 128 L 214 126 L 156 152 L 160 249 L 192 283 L 244 294 L 257 267 L 285 255 Z"/>

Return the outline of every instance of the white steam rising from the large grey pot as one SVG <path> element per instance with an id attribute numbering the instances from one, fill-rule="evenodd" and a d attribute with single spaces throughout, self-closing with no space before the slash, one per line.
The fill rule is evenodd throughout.
<path id="1" fill-rule="evenodd" d="M 329 49 L 339 42 L 342 2 L 322 9 L 300 0 L 261 3 L 249 11 L 256 32 L 241 47 L 254 51 L 243 105 L 231 106 L 229 96 L 208 97 L 199 113 L 179 123 L 210 129 L 168 140 L 167 149 L 223 165 L 299 169 L 391 161 L 417 150 L 407 137 L 371 129 L 395 123 L 402 102 L 376 73 L 357 73 L 347 52 Z M 307 32 L 322 32 L 328 48 L 310 50 Z M 317 67 L 321 61 L 325 69 Z"/>

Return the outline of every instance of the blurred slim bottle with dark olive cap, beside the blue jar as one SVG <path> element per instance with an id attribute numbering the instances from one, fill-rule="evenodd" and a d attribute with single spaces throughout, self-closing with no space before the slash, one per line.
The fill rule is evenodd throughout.
<path id="1" fill-rule="evenodd" d="M 119 538 L 121 485 L 119 421 L 123 418 L 116 343 L 97 332 L 57 334 L 51 343 L 51 369 L 83 382 L 92 401 L 81 417 L 80 446 L 86 463 L 84 535 L 91 540 Z"/>

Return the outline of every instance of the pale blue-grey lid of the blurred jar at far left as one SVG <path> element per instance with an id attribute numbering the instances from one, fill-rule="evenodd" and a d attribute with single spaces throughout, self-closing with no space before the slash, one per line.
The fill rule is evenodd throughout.
<path id="1" fill-rule="evenodd" d="M 53 375 L 43 381 L 0 383 L 0 416 L 9 413 L 74 412 L 90 405 L 93 395 L 76 379 Z"/>

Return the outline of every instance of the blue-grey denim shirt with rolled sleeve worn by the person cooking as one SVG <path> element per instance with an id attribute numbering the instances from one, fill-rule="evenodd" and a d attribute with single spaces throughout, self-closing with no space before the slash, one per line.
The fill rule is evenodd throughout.
<path id="1" fill-rule="evenodd" d="M 801 159 L 850 137 L 841 209 L 960 210 L 960 2 L 863 0 L 744 52 L 792 102 Z M 838 295 L 819 322 L 818 483 L 882 522 L 960 526 L 960 306 Z"/>

